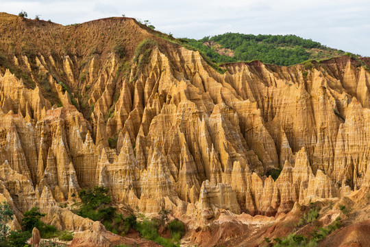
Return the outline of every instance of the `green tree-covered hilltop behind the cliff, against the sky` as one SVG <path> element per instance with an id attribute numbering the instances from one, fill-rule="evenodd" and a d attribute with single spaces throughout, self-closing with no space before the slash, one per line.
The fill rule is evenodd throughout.
<path id="1" fill-rule="evenodd" d="M 260 60 L 264 63 L 292 65 L 309 59 L 322 59 L 344 55 L 344 51 L 328 48 L 310 39 L 295 35 L 262 35 L 226 33 L 206 36 L 200 40 L 182 38 L 182 42 L 195 47 L 214 62 L 238 62 Z M 234 56 L 223 56 L 214 47 L 207 47 L 210 41 L 230 49 Z"/>

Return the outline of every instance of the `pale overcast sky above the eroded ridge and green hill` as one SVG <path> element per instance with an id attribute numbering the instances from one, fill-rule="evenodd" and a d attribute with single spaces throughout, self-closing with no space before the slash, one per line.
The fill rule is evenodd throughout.
<path id="1" fill-rule="evenodd" d="M 109 16 L 149 20 L 173 36 L 295 34 L 323 45 L 370 56 L 369 0 L 0 0 L 0 12 L 21 10 L 63 25 Z"/>

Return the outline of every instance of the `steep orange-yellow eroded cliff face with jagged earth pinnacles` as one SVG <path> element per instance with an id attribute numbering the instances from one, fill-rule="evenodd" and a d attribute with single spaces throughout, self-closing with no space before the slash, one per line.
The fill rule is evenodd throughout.
<path id="1" fill-rule="evenodd" d="M 115 202 L 196 227 L 224 209 L 275 216 L 370 185 L 367 58 L 221 74 L 133 19 L 0 20 L 0 193 L 18 217 L 58 208 L 50 222 L 92 229 L 58 203 L 104 185 Z"/>

